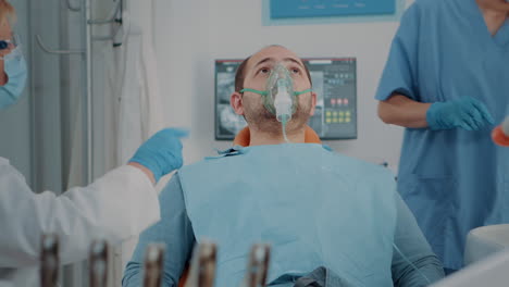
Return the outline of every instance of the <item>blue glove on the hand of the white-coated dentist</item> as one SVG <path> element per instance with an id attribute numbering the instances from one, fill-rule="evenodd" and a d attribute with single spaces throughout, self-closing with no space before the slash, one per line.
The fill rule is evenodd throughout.
<path id="1" fill-rule="evenodd" d="M 153 173 L 156 183 L 182 166 L 181 138 L 188 135 L 187 130 L 165 128 L 158 132 L 138 148 L 129 162 L 137 162 Z"/>

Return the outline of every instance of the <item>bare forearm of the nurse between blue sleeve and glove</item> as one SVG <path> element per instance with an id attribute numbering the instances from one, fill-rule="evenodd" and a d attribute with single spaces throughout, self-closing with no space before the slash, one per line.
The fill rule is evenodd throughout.
<path id="1" fill-rule="evenodd" d="M 426 112 L 430 105 L 431 103 L 393 93 L 387 100 L 378 102 L 378 116 L 386 124 L 410 128 L 427 127 Z"/>

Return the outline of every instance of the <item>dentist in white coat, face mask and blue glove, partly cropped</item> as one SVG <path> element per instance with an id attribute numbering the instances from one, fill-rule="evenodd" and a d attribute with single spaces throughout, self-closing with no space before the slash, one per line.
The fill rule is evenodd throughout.
<path id="1" fill-rule="evenodd" d="M 25 86 L 26 63 L 12 39 L 14 9 L 0 0 L 0 111 L 15 103 Z M 57 234 L 62 264 L 87 258 L 94 239 L 119 244 L 160 220 L 159 178 L 182 166 L 179 129 L 163 129 L 129 163 L 87 187 L 55 196 L 34 194 L 25 178 L 0 158 L 0 286 L 17 285 L 21 269 L 37 267 L 44 233 Z"/>

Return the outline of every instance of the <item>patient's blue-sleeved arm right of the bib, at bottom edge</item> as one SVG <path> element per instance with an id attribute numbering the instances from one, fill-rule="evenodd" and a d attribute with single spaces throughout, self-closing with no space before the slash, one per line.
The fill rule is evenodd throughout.
<path id="1" fill-rule="evenodd" d="M 394 286 L 423 287 L 442 279 L 442 262 L 431 249 L 413 214 L 399 195 L 396 195 L 396 207 L 394 244 L 397 249 L 394 248 L 392 264 Z"/>

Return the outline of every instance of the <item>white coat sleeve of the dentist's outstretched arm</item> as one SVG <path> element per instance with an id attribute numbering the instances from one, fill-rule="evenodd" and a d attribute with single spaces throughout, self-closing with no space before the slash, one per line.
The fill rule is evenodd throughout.
<path id="1" fill-rule="evenodd" d="M 159 220 L 157 191 L 136 167 L 119 167 L 57 197 L 34 194 L 9 162 L 0 161 L 0 267 L 38 264 L 42 233 L 59 236 L 65 264 L 86 259 L 94 239 L 117 244 Z"/>

